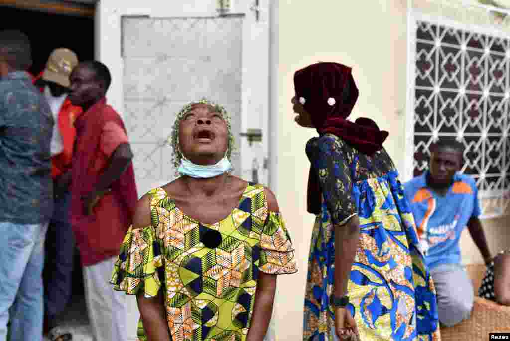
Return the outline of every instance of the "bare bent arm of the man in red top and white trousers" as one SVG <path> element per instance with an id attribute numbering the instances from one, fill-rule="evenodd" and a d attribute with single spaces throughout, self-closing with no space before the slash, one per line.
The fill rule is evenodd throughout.
<path id="1" fill-rule="evenodd" d="M 106 166 L 105 172 L 99 177 L 94 190 L 88 194 L 84 199 L 84 208 L 88 214 L 92 214 L 92 209 L 97 204 L 99 199 L 108 191 L 110 185 L 118 180 L 122 173 L 129 166 L 133 159 L 133 152 L 129 143 L 121 143 L 113 151 Z"/>

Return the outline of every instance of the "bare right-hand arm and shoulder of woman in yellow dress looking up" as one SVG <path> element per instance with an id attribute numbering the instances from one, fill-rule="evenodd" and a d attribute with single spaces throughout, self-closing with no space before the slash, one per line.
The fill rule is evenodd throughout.
<path id="1" fill-rule="evenodd" d="M 270 212 L 279 212 L 278 203 L 273 192 L 265 188 L 267 206 Z M 276 294 L 276 276 L 259 272 L 257 291 L 253 303 L 251 323 L 246 341 L 262 341 L 266 336 L 267 328 L 273 313 L 274 296 Z"/>

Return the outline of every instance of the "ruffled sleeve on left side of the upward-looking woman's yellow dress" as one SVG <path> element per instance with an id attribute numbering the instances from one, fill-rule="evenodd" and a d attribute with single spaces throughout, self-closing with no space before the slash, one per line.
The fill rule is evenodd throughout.
<path id="1" fill-rule="evenodd" d="M 122 241 L 110 283 L 126 295 L 144 290 L 145 297 L 158 295 L 164 280 L 163 256 L 152 226 L 131 227 Z"/>

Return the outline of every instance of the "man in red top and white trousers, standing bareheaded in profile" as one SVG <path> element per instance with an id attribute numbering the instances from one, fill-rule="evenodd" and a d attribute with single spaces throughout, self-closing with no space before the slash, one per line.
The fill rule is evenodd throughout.
<path id="1" fill-rule="evenodd" d="M 126 340 L 125 295 L 108 283 L 138 201 L 133 152 L 122 119 L 106 104 L 108 68 L 97 61 L 80 63 L 70 81 L 69 99 L 84 111 L 74 122 L 71 223 L 92 335 L 95 341 Z"/>

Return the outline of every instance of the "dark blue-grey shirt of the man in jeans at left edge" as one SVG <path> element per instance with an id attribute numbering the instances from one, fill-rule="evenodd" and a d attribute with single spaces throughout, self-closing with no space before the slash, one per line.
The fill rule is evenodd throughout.
<path id="1" fill-rule="evenodd" d="M 0 222 L 44 224 L 52 217 L 54 124 L 27 72 L 0 78 Z"/>

